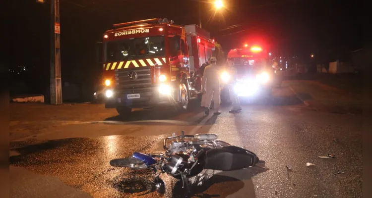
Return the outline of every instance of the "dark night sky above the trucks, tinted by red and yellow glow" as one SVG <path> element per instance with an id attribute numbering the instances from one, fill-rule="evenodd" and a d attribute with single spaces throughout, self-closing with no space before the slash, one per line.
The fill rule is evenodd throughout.
<path id="1" fill-rule="evenodd" d="M 197 24 L 199 2 L 202 27 L 225 51 L 245 43 L 262 45 L 274 56 L 363 47 L 361 4 L 352 4 L 357 1 L 225 0 L 226 8 L 215 13 L 208 0 L 61 0 L 62 80 L 81 78 L 87 70 L 92 75 L 85 79 L 95 78 L 101 67 L 95 64 L 94 44 L 114 23 L 166 17 L 175 24 Z M 13 3 L 17 59 L 10 66 L 35 67 L 39 78 L 48 82 L 50 3 Z"/>

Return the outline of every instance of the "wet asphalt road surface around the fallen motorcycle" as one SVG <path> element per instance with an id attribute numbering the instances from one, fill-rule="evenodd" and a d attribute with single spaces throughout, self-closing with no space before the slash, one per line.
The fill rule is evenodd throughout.
<path id="1" fill-rule="evenodd" d="M 221 107 L 221 115 L 204 116 L 194 106 L 183 114 L 159 108 L 127 119 L 66 124 L 13 141 L 10 196 L 177 197 L 182 188 L 176 179 L 162 175 L 165 192 L 150 192 L 151 172 L 111 167 L 109 161 L 133 151 L 162 151 L 163 138 L 185 130 L 215 133 L 265 161 L 265 169 L 203 172 L 192 180 L 195 197 L 362 197 L 361 116 L 313 111 L 286 87 L 274 90 L 267 103 L 243 104 L 236 114 Z M 318 157 L 328 153 L 336 158 Z"/>

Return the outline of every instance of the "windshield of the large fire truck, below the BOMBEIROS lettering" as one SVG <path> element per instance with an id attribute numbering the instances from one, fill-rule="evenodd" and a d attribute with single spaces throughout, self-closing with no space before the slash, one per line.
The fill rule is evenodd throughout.
<path id="1" fill-rule="evenodd" d="M 105 62 L 153 55 L 165 55 L 163 36 L 124 39 L 105 44 Z"/>

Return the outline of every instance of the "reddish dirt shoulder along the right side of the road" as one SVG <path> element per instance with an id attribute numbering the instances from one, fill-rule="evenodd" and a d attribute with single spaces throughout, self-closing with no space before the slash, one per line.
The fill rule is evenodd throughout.
<path id="1" fill-rule="evenodd" d="M 362 113 L 362 96 L 357 92 L 313 80 L 289 80 L 284 83 L 316 110 L 332 113 Z"/>

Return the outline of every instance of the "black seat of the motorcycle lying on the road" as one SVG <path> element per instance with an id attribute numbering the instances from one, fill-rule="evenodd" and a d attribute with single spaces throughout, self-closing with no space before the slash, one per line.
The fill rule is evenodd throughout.
<path id="1" fill-rule="evenodd" d="M 232 171 L 254 166 L 258 157 L 244 148 L 212 148 L 205 153 L 205 169 Z"/>

